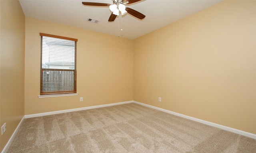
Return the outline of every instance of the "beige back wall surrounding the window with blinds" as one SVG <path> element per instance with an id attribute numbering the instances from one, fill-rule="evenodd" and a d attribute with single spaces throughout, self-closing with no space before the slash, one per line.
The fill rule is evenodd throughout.
<path id="1" fill-rule="evenodd" d="M 78 96 L 38 98 L 40 32 L 78 39 Z M 130 39 L 26 17 L 25 50 L 26 115 L 125 102 L 133 98 L 133 41 Z M 79 97 L 83 97 L 83 102 Z"/>

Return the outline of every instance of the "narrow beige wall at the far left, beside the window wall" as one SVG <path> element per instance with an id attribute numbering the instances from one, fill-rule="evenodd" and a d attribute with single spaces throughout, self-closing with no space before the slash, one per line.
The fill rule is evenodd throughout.
<path id="1" fill-rule="evenodd" d="M 0 0 L 0 151 L 24 116 L 25 16 L 18 0 Z"/>

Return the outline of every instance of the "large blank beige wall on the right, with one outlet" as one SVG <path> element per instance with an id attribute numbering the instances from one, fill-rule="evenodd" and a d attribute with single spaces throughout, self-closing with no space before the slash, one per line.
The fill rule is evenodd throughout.
<path id="1" fill-rule="evenodd" d="M 133 99 L 256 134 L 256 1 L 224 1 L 135 39 Z"/>

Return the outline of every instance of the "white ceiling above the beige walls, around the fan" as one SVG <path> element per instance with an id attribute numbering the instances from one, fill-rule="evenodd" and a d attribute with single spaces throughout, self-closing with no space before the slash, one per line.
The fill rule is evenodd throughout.
<path id="1" fill-rule="evenodd" d="M 143 20 L 125 14 L 122 18 L 117 17 L 114 22 L 108 22 L 112 13 L 108 7 L 82 4 L 82 2 L 113 4 L 112 0 L 20 0 L 20 4 L 26 17 L 136 39 L 221 1 L 223 0 L 141 0 L 130 5 L 126 4 L 126 7 L 144 14 L 146 17 Z M 98 24 L 88 22 L 88 18 L 100 22 Z M 121 27 L 123 30 L 118 30 Z"/>

